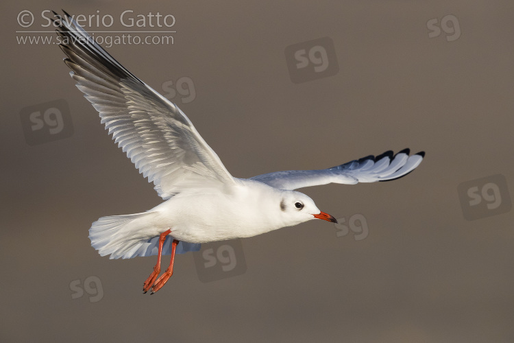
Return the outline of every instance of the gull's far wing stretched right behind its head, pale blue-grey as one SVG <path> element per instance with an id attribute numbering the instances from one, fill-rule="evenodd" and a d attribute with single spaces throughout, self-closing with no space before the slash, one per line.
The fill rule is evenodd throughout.
<path id="1" fill-rule="evenodd" d="M 367 156 L 343 165 L 320 170 L 289 170 L 254 176 L 252 180 L 278 189 L 297 189 L 328 183 L 354 185 L 358 182 L 390 181 L 406 176 L 421 163 L 425 152 L 408 156 L 405 149 L 393 156 L 392 151 Z"/>

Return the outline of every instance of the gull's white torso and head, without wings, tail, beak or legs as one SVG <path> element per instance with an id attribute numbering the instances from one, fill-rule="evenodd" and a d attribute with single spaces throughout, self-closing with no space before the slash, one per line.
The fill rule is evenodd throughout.
<path id="1" fill-rule="evenodd" d="M 304 204 L 301 211 L 295 207 L 296 202 Z M 236 185 L 223 190 L 181 193 L 151 212 L 156 213 L 160 223 L 151 237 L 173 226 L 175 239 L 206 243 L 294 226 L 315 219 L 313 215 L 321 211 L 303 193 L 276 189 L 258 181 L 238 180 Z"/>

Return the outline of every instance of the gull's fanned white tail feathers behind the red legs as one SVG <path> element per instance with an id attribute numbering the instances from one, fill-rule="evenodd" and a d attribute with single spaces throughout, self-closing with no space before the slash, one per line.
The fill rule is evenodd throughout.
<path id="1" fill-rule="evenodd" d="M 110 255 L 110 259 L 132 259 L 137 256 L 157 255 L 159 235 L 150 237 L 151 222 L 155 212 L 143 212 L 132 215 L 110 215 L 101 217 L 89 229 L 91 246 L 98 250 L 101 256 Z M 168 235 L 162 255 L 171 255 L 173 237 Z M 200 250 L 200 244 L 180 241 L 175 252 L 184 254 L 188 251 Z"/>

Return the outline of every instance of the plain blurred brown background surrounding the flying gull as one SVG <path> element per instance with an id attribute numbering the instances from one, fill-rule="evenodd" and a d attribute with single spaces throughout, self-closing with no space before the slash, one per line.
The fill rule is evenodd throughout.
<path id="1" fill-rule="evenodd" d="M 514 211 L 504 205 L 514 191 L 512 1 L 1 7 L 2 342 L 514 342 Z M 88 228 L 160 198 L 103 130 L 57 45 L 18 43 L 29 34 L 16 31 L 48 30 L 40 13 L 60 8 L 110 14 L 111 27 L 92 29 L 113 31 L 165 29 L 123 27 L 125 10 L 173 14 L 173 45 L 108 51 L 158 91 L 191 80 L 194 99 L 172 101 L 234 176 L 404 147 L 426 159 L 394 182 L 301 190 L 347 223 L 363 215 L 365 239 L 311 221 L 241 240 L 246 271 L 219 281 L 199 281 L 193 254 L 179 255 L 171 281 L 143 295 L 155 257 L 100 257 Z M 17 21 L 23 10 L 35 16 L 29 28 Z M 286 47 L 323 37 L 339 71 L 293 83 Z M 58 99 L 71 136 L 28 145 L 23 109 Z M 458 185 L 496 174 L 508 185 L 503 213 L 465 220 Z"/>

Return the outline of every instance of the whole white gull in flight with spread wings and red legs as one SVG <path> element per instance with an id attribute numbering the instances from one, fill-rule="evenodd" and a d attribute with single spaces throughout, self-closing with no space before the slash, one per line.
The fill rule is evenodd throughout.
<path id="1" fill-rule="evenodd" d="M 69 14 L 54 14 L 64 62 L 77 88 L 165 200 L 143 213 L 101 217 L 89 230 L 91 245 L 102 256 L 158 256 L 144 292 L 156 292 L 167 282 L 175 253 L 199 250 L 201 243 L 252 237 L 314 219 L 336 222 L 295 189 L 395 180 L 424 158 L 424 152 L 410 156 L 405 149 L 328 169 L 234 178 L 178 106 L 114 60 Z M 156 279 L 161 256 L 168 254 L 169 268 Z"/>

